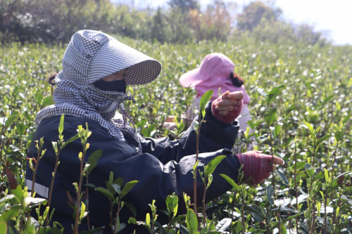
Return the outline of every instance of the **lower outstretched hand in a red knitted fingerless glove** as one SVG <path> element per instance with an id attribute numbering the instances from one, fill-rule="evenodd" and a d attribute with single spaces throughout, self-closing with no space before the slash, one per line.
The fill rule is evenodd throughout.
<path id="1" fill-rule="evenodd" d="M 270 172 L 276 168 L 274 164 L 284 164 L 281 158 L 275 156 L 272 162 L 272 155 L 265 155 L 256 150 L 236 154 L 236 156 L 243 164 L 244 179 L 251 178 L 249 182 L 251 185 L 262 183 L 265 178 L 269 178 Z"/>

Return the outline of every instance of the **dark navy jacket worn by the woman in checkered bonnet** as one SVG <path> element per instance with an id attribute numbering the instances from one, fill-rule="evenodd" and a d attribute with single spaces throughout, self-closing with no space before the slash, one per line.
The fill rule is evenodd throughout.
<path id="1" fill-rule="evenodd" d="M 237 181 L 238 169 L 240 167 L 237 157 L 229 150 L 234 145 L 239 129 L 238 122 L 225 124 L 215 119 L 210 104 L 206 107 L 206 122 L 201 125 L 199 142 L 199 169 L 203 170 L 203 164 L 208 164 L 210 160 L 218 155 L 226 155 L 225 160 L 218 165 L 213 173 L 213 183 L 207 192 L 207 201 L 222 195 L 231 186 L 219 174 L 227 174 Z M 49 117 L 42 120 L 32 139 L 32 145 L 27 152 L 27 157 L 37 157 L 37 149 L 34 141 L 44 136 L 44 147 L 46 154 L 39 163 L 35 180 L 35 190 L 38 197 L 46 198 L 51 184 L 51 174 L 54 171 L 56 157 L 51 146 L 52 141 L 58 140 L 58 124 L 60 116 Z M 65 141 L 77 134 L 77 126 L 88 123 L 92 136 L 87 156 L 95 150 L 103 150 L 103 156 L 98 161 L 98 165 L 89 175 L 89 183 L 94 183 L 97 187 L 106 187 L 110 171 L 113 171 L 114 179 L 122 177 L 125 183 L 137 180 L 137 183 L 130 193 L 123 200 L 133 204 L 137 209 L 137 221 L 144 221 L 146 213 L 151 213 L 148 204 L 156 200 L 158 209 L 165 209 L 165 198 L 172 193 L 179 196 L 179 214 L 184 212 L 184 200 L 182 193 L 187 193 L 193 202 L 193 177 L 191 174 L 196 156 L 196 133 L 192 125 L 177 141 L 170 141 L 168 138 L 142 138 L 142 154 L 138 154 L 136 148 L 137 141 L 132 137 L 125 137 L 125 141 L 120 141 L 111 137 L 101 125 L 91 119 L 65 116 L 63 136 Z M 75 196 L 74 182 L 79 181 L 80 160 L 79 152 L 82 151 L 80 140 L 68 144 L 61 152 L 60 164 L 56 173 L 54 190 L 51 200 L 51 208 L 55 208 L 52 221 L 58 221 L 65 228 L 65 233 L 72 233 L 71 224 L 73 220 L 73 209 L 68 206 L 66 191 Z M 26 183 L 28 188 L 32 185 L 32 170 L 27 166 Z M 84 180 L 85 183 L 85 180 Z M 84 186 L 82 187 L 85 188 Z M 82 189 L 82 190 L 83 190 Z M 203 184 L 201 178 L 197 178 L 197 204 L 201 205 L 203 195 Z M 116 206 L 114 207 L 116 208 Z M 110 202 L 101 193 L 89 188 L 89 220 L 94 227 L 105 226 L 104 233 L 111 233 L 110 223 Z M 116 209 L 113 211 L 113 216 Z M 162 212 L 158 212 L 158 221 L 163 222 Z M 127 223 L 132 216 L 127 207 L 123 207 L 120 212 L 120 222 Z M 146 229 L 133 224 L 127 224 L 122 233 L 132 233 L 133 229 L 137 233 L 146 233 Z M 87 219 L 80 225 L 80 230 L 87 229 Z"/>

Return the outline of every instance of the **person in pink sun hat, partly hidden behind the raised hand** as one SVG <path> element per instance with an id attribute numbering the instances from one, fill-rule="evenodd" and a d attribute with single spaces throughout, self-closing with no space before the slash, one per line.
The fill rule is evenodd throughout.
<path id="1" fill-rule="evenodd" d="M 248 104 L 251 101 L 248 93 L 244 89 L 244 82 L 239 75 L 234 73 L 234 63 L 230 58 L 222 53 L 210 53 L 201 61 L 201 65 L 187 73 L 182 74 L 180 83 L 184 87 L 194 87 L 197 91 L 197 96 L 191 109 L 187 110 L 187 119 L 194 119 L 194 108 L 199 108 L 201 96 L 208 90 L 213 90 L 213 96 L 210 100 L 215 105 L 215 110 L 218 110 L 220 118 L 224 122 L 227 121 L 228 112 L 232 110 L 222 110 L 216 105 L 218 99 L 225 99 L 227 93 L 241 91 L 244 93 L 243 107 L 241 117 L 239 117 L 240 129 L 246 131 L 247 122 L 251 119 Z M 222 95 L 219 94 L 222 93 Z M 234 106 L 234 110 L 236 110 Z M 215 114 L 216 115 L 216 114 Z M 221 116 L 222 115 L 222 116 Z M 230 118 L 231 119 L 231 118 Z"/>

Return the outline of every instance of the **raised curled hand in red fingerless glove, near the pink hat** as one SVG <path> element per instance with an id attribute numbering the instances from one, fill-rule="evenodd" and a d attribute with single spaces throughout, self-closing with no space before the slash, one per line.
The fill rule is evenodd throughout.
<path id="1" fill-rule="evenodd" d="M 243 98 L 244 93 L 241 91 L 234 91 L 232 93 L 226 91 L 222 96 L 213 100 L 211 111 L 217 119 L 227 124 L 231 124 L 234 122 L 234 119 L 237 119 L 239 114 L 241 114 Z"/>

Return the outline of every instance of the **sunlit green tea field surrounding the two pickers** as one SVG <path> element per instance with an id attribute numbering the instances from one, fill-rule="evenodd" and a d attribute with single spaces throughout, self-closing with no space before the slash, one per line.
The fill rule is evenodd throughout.
<path id="1" fill-rule="evenodd" d="M 256 150 L 285 162 L 274 178 L 259 186 L 239 183 L 207 204 L 206 228 L 191 212 L 161 226 L 151 210 L 142 223 L 146 231 L 155 226 L 156 233 L 352 233 L 352 46 L 268 44 L 245 38 L 189 45 L 120 40 L 163 65 L 156 81 L 127 87 L 137 103 L 126 107 L 144 136 L 168 136 L 163 121 L 174 115 L 180 122 L 195 95 L 180 86 L 178 78 L 206 54 L 220 52 L 234 61 L 251 97 L 252 131 L 247 129 L 237 144 L 246 151 L 252 142 Z M 36 113 L 52 103 L 46 79 L 61 70 L 65 46 L 0 46 L 0 233 L 49 230 L 40 228 L 45 226 L 44 214 L 39 221 L 27 219 L 34 204 L 44 206 L 46 201 L 26 193 L 26 151 Z M 177 124 L 179 136 L 182 124 Z M 198 212 L 201 217 L 201 209 Z M 51 227 L 51 233 L 61 231 L 60 226 Z"/>

